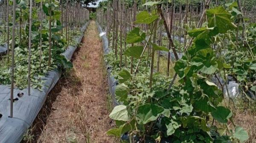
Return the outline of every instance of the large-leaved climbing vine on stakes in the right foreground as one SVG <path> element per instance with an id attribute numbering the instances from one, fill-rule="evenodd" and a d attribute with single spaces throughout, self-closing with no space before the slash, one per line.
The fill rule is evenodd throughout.
<path id="1" fill-rule="evenodd" d="M 237 2 L 205 10 L 198 28 L 187 31 L 190 40 L 183 48 L 184 55 L 181 59 L 175 56 L 174 70 L 179 78 L 174 76 L 170 79 L 154 73 L 153 65 L 156 51 L 175 54 L 170 36 L 172 49 L 157 44 L 155 40 L 160 25 L 168 28 L 161 15 L 161 4 L 158 1 L 147 2 L 143 6 L 149 6 L 150 10 L 136 15 L 134 25 L 147 28 L 135 26 L 124 35 L 128 48 L 120 54 L 127 56 L 125 63 L 121 61 L 119 64 L 120 55 L 114 47 L 106 56 L 113 75 L 118 75 L 115 95 L 121 103 L 109 115 L 116 121 L 116 128 L 107 134 L 121 137 L 123 142 L 246 141 L 248 134 L 233 121 L 232 99 L 227 97 L 229 100 L 226 101 L 224 88 L 227 76 L 232 75 L 244 83 L 245 92 L 248 88 L 255 91 L 255 24 L 245 30 L 239 26 L 244 17 Z M 245 35 L 237 36 L 237 32 L 242 31 Z M 240 42 L 236 38 L 241 38 Z M 116 41 L 122 44 L 122 41 Z M 228 52 L 224 57 L 226 49 Z M 241 54 L 246 56 L 239 58 Z M 224 80 L 223 85 L 219 87 L 213 78 Z M 175 79 L 177 84 L 174 84 Z"/>

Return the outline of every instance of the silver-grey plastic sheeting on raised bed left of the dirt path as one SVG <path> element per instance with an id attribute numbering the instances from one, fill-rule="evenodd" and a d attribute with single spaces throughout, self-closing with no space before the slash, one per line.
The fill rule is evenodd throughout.
<path id="1" fill-rule="evenodd" d="M 81 32 L 87 28 L 87 22 Z M 76 37 L 77 43 L 81 42 L 81 36 Z M 78 47 L 68 46 L 67 50 L 62 53 L 66 59 L 70 60 L 74 51 Z M 40 90 L 31 89 L 31 95 L 27 94 L 28 89 L 14 89 L 13 118 L 10 115 L 10 85 L 0 85 L 0 143 L 20 143 L 23 135 L 27 132 L 29 126 L 32 125 L 38 112 L 40 112 L 48 93 L 61 77 L 61 71 L 58 69 L 49 71 L 42 78 L 44 85 Z"/>

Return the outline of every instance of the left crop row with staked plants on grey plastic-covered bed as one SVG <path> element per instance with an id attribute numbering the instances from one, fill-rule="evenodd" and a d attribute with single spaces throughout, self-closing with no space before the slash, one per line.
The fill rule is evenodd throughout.
<path id="1" fill-rule="evenodd" d="M 89 11 L 79 1 L 1 0 L 0 12 L 0 143 L 18 143 L 72 68 Z"/>

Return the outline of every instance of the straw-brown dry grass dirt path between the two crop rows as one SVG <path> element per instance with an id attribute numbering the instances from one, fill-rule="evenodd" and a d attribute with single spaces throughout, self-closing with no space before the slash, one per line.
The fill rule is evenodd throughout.
<path id="1" fill-rule="evenodd" d="M 81 47 L 73 55 L 73 69 L 64 73 L 25 138 L 32 143 L 115 143 L 111 128 L 108 85 L 102 43 L 91 22 Z M 24 142 L 24 141 L 23 141 Z"/>

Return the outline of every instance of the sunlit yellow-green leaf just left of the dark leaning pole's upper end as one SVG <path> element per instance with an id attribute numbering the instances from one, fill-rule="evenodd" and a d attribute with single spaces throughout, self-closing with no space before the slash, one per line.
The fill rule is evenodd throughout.
<path id="1" fill-rule="evenodd" d="M 151 15 L 147 11 L 142 11 L 136 16 L 136 23 L 150 24 L 158 19 L 158 15 Z"/>

